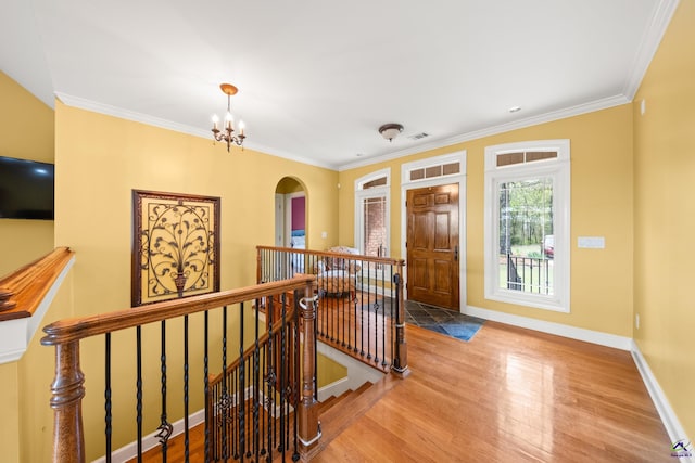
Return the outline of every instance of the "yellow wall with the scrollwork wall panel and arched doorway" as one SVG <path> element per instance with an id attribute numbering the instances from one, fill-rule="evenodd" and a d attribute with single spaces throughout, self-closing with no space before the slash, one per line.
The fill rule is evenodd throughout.
<path id="1" fill-rule="evenodd" d="M 189 193 L 222 197 L 222 288 L 255 283 L 255 246 L 273 245 L 275 191 L 283 177 L 301 179 L 309 210 L 308 239 L 320 242 L 320 231 L 337 234 L 334 187 L 338 173 L 245 149 L 227 153 L 219 143 L 115 117 L 56 104 L 55 242 L 77 254 L 73 268 L 76 317 L 130 307 L 131 190 Z M 236 323 L 237 318 L 230 324 Z M 245 318 L 247 322 L 251 317 Z M 191 318 L 191 333 L 202 321 Z M 168 322 L 170 338 L 181 333 L 180 322 Z M 214 326 L 219 330 L 219 322 Z M 159 327 L 143 330 L 149 350 L 159 352 Z M 200 331 L 198 331 L 200 333 Z M 217 332 L 211 334 L 214 337 Z M 134 372 L 134 333 L 114 336 L 114 375 Z M 128 344 L 129 342 L 129 344 Z M 200 344 L 200 343 L 199 343 Z M 87 456 L 103 453 L 103 340 L 83 343 L 83 366 L 89 388 L 85 399 Z M 200 346 L 192 358 L 200 356 Z M 197 350 L 195 350 L 197 349 Z M 170 364 L 182 356 L 180 346 L 167 352 Z M 159 353 L 146 371 L 157 376 Z M 218 362 L 218 361 L 217 361 Z M 201 377 L 199 365 L 191 377 Z M 92 372 L 90 374 L 90 372 Z M 94 373 L 98 372 L 97 377 Z M 167 376 L 172 391 L 181 389 L 182 374 Z M 114 397 L 132 393 L 135 382 L 118 384 Z M 155 382 L 146 399 L 156 400 Z M 147 386 L 146 386 L 147 387 Z M 198 386 L 191 386 L 198 387 Z M 173 393 L 174 394 L 174 393 Z M 193 390 L 192 393 L 193 394 Z M 115 399 L 121 400 L 121 399 Z M 170 421 L 181 417 L 180 401 L 170 398 Z M 114 420 L 132 417 L 132 410 L 114 403 Z M 191 411 L 202 403 L 192 403 Z M 115 421 L 117 423 L 117 421 Z M 147 422 L 146 434 L 159 423 Z M 131 426 L 130 426 L 131 427 Z M 115 448 L 134 440 L 130 429 L 114 429 Z"/>

